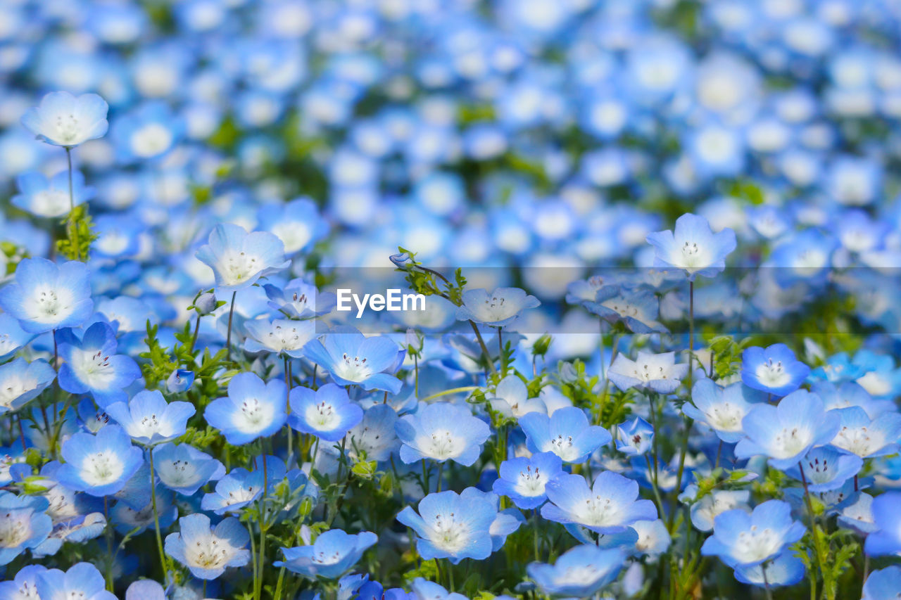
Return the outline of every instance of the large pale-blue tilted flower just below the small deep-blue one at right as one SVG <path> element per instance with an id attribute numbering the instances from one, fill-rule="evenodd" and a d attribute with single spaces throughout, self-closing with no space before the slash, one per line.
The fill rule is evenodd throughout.
<path id="1" fill-rule="evenodd" d="M 832 441 L 839 425 L 839 415 L 825 411 L 820 396 L 799 389 L 782 398 L 778 406 L 751 407 L 742 419 L 746 437 L 735 446 L 735 456 L 763 455 L 774 468 L 794 467 L 811 448 Z"/>

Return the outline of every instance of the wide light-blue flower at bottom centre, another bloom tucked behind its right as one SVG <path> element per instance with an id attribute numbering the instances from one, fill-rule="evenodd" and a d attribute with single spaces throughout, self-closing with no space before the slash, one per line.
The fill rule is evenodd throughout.
<path id="1" fill-rule="evenodd" d="M 471 490 L 471 491 L 470 491 Z M 397 514 L 397 521 L 419 536 L 416 550 L 425 560 L 487 559 L 494 549 L 491 524 L 497 516 L 496 506 L 475 488 L 462 494 L 438 492 L 419 502 L 419 514 L 411 506 Z"/>

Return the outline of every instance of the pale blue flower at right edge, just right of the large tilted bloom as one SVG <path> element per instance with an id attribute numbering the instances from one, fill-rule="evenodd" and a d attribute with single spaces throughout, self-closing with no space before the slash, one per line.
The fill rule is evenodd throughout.
<path id="1" fill-rule="evenodd" d="M 901 414 L 883 413 L 870 419 L 860 406 L 840 408 L 840 427 L 832 440 L 836 448 L 861 459 L 886 456 L 898 451 L 901 440 Z"/>

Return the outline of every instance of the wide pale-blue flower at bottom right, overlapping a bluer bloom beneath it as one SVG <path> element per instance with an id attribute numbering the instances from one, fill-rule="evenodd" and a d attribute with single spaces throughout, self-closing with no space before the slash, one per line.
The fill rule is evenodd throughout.
<path id="1" fill-rule="evenodd" d="M 701 547 L 704 556 L 718 556 L 730 567 L 751 567 L 776 558 L 804 536 L 805 528 L 791 518 L 791 506 L 768 500 L 751 514 L 726 511 L 714 519 L 714 534 Z"/>

